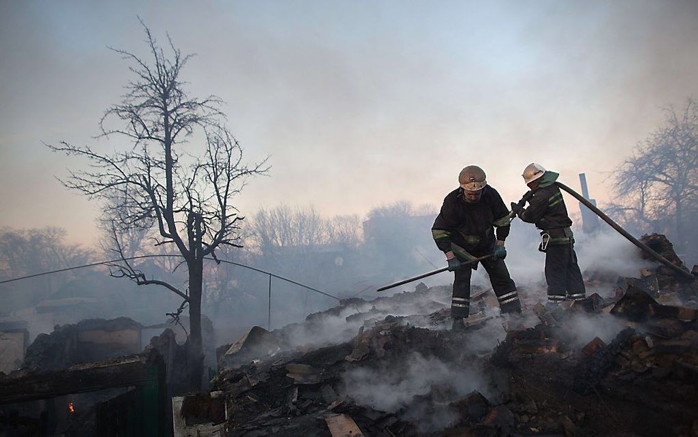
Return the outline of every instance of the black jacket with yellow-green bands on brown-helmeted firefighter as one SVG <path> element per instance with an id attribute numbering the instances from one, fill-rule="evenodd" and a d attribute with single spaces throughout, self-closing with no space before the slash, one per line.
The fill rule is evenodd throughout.
<path id="1" fill-rule="evenodd" d="M 495 244 L 494 227 L 498 240 L 504 241 L 509 235 L 508 215 L 509 210 L 496 189 L 487 185 L 482 189 L 480 201 L 468 203 L 459 187 L 443 199 L 431 234 L 442 252 L 454 250 L 455 244 L 475 255 L 486 255 Z"/>

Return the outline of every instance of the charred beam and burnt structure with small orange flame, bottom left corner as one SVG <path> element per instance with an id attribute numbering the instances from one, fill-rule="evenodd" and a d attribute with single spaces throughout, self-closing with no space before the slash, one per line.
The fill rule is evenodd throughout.
<path id="1" fill-rule="evenodd" d="M 156 350 L 58 371 L 0 373 L 0 436 L 96 436 L 162 429 L 165 364 Z"/>

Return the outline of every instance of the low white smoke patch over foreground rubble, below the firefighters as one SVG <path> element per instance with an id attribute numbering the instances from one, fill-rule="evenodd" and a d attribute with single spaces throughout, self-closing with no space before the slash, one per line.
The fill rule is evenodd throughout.
<path id="1" fill-rule="evenodd" d="M 448 403 L 477 390 L 495 396 L 477 366 L 458 366 L 413 353 L 378 368 L 355 368 L 342 375 L 343 394 L 357 403 L 399 415 L 419 431 L 438 431 L 454 424 Z"/>

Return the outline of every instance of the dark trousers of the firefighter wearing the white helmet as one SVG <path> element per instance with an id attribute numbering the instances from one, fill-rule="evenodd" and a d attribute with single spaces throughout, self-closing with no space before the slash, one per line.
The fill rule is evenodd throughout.
<path id="1" fill-rule="evenodd" d="M 579 300 L 586 297 L 574 245 L 548 245 L 545 251 L 545 280 L 548 282 L 548 300 Z"/>

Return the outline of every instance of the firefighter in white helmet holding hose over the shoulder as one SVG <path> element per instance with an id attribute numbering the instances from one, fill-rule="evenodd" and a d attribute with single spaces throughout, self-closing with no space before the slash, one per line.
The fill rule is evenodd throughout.
<path id="1" fill-rule="evenodd" d="M 545 279 L 548 301 L 560 303 L 565 299 L 581 300 L 586 287 L 581 278 L 577 254 L 574 252 L 572 220 L 567 215 L 563 194 L 555 185 L 558 173 L 546 171 L 540 164 L 528 164 L 523 169 L 523 181 L 533 191 L 526 209 L 512 203 L 512 210 L 524 222 L 535 223 L 542 241 L 538 250 L 545 252 Z"/>

